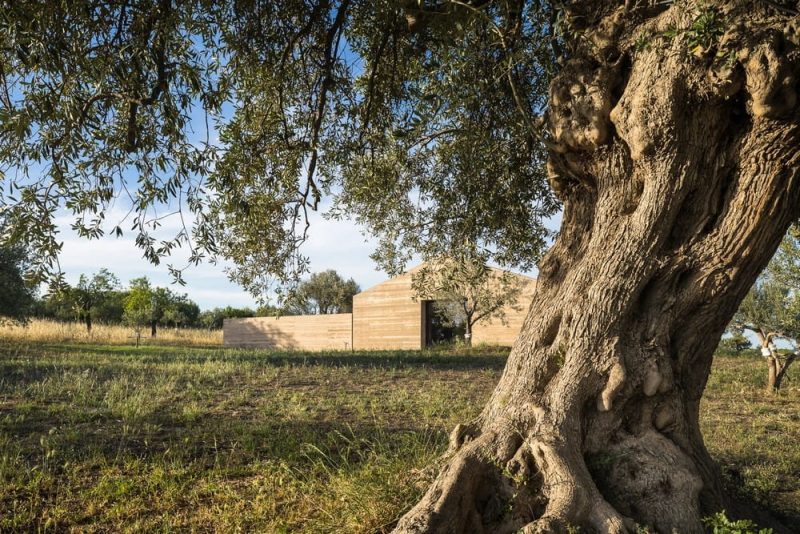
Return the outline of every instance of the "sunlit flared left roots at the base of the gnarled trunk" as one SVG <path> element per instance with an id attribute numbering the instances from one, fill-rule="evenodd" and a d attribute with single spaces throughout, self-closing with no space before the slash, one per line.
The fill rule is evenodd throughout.
<path id="1" fill-rule="evenodd" d="M 625 533 L 634 524 L 597 491 L 579 454 L 519 435 L 453 431 L 452 456 L 395 532 L 566 532 L 571 525 Z M 458 445 L 460 444 L 460 445 Z"/>

